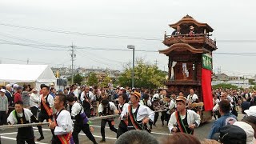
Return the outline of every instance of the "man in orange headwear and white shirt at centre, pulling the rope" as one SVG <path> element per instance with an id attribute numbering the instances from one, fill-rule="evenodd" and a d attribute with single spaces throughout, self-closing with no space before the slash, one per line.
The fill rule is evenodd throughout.
<path id="1" fill-rule="evenodd" d="M 130 94 L 131 105 L 127 106 L 125 110 L 122 110 L 120 114 L 121 119 L 128 119 L 127 130 L 150 130 L 146 124 L 151 121 L 154 122 L 154 111 L 150 110 L 147 106 L 142 106 L 138 102 L 140 101 L 141 94 L 134 91 Z"/>

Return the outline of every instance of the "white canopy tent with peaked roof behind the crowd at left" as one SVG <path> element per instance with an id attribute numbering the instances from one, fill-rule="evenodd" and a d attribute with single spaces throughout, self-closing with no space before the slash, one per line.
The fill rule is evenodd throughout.
<path id="1" fill-rule="evenodd" d="M 0 64 L 0 82 L 4 83 L 30 83 L 31 86 L 40 89 L 42 83 L 47 86 L 57 78 L 48 65 L 19 65 Z"/>

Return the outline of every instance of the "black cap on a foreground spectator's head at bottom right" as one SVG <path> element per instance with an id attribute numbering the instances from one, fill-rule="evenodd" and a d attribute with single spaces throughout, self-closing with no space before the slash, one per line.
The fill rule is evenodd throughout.
<path id="1" fill-rule="evenodd" d="M 225 144 L 246 143 L 246 131 L 239 126 L 226 125 L 220 130 L 219 140 Z"/>

